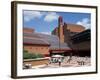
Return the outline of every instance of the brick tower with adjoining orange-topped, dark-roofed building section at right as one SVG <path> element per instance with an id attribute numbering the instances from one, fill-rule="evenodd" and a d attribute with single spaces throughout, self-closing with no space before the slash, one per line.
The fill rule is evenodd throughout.
<path id="1" fill-rule="evenodd" d="M 52 31 L 52 34 L 59 37 L 60 43 L 67 43 L 73 54 L 90 56 L 90 30 L 85 30 L 82 25 L 67 24 L 60 16 L 58 27 Z"/>

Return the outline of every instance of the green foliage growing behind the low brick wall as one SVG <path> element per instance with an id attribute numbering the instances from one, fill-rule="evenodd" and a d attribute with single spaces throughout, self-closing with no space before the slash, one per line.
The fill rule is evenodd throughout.
<path id="1" fill-rule="evenodd" d="M 44 56 L 40 53 L 28 53 L 28 51 L 23 51 L 23 58 L 24 59 L 36 59 L 36 58 L 43 58 Z"/>

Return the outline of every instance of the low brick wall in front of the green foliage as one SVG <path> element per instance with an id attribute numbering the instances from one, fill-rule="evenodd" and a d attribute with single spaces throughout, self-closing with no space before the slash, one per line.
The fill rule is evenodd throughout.
<path id="1" fill-rule="evenodd" d="M 48 64 L 49 59 L 48 58 L 41 58 L 41 59 L 24 59 L 24 64 L 31 64 L 32 66 L 38 66 L 43 64 Z"/>

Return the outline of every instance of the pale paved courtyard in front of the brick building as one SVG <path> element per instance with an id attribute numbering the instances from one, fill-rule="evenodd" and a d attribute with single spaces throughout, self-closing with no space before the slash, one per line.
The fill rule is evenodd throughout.
<path id="1" fill-rule="evenodd" d="M 59 63 L 48 63 L 40 66 L 34 66 L 34 68 L 59 68 L 59 67 L 81 67 L 81 66 L 90 66 L 91 65 L 91 58 L 90 57 L 76 57 L 72 56 L 71 60 L 70 57 L 64 57 L 63 62 L 59 66 Z"/>

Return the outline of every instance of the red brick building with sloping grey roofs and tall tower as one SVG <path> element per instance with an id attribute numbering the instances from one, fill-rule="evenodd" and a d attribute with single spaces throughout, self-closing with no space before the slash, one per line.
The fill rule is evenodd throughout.
<path id="1" fill-rule="evenodd" d="M 36 33 L 34 29 L 24 28 L 24 49 L 30 53 L 40 53 L 45 56 L 50 56 L 51 54 L 75 54 L 73 51 L 78 52 L 80 50 L 89 53 L 90 40 L 73 43 L 73 37 L 76 35 L 80 38 L 79 35 L 82 35 L 84 31 L 85 28 L 83 26 L 66 24 L 60 16 L 58 18 L 58 27 L 52 31 L 52 35 Z M 77 37 L 74 37 L 74 39 L 77 39 Z M 85 45 L 87 45 L 87 48 L 81 47 Z"/>

